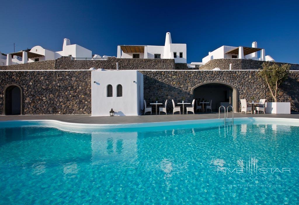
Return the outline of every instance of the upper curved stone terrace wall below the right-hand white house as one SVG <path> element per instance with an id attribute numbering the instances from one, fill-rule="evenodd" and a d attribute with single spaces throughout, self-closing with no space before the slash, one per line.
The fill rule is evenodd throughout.
<path id="1" fill-rule="evenodd" d="M 214 68 L 220 68 L 221 70 L 229 70 L 229 64 L 232 64 L 233 70 L 258 70 L 262 68 L 262 64 L 265 61 L 260 60 L 248 60 L 248 59 L 238 59 L 238 58 L 224 58 L 224 59 L 213 59 L 208 61 L 203 66 L 200 66 L 200 70 L 212 70 Z M 274 62 L 269 62 L 274 63 Z M 286 64 L 286 63 L 277 63 Z M 299 64 L 288 63 L 291 65 L 290 70 L 299 70 Z"/>

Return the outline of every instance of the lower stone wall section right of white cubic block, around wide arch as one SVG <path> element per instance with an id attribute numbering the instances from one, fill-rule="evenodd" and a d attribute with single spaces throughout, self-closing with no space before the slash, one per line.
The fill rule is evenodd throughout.
<path id="1" fill-rule="evenodd" d="M 140 71 L 144 74 L 144 99 L 147 102 L 159 100 L 181 101 L 182 97 L 191 102 L 191 90 L 200 83 L 223 82 L 235 86 L 238 90 L 238 109 L 240 100 L 254 97 L 255 100 L 272 101 L 269 89 L 263 79 L 258 76 L 259 71 Z M 292 111 L 299 111 L 299 72 L 290 72 L 289 79 L 282 86 L 279 102 L 291 102 Z M 168 105 L 168 112 L 172 112 L 172 104 Z"/>

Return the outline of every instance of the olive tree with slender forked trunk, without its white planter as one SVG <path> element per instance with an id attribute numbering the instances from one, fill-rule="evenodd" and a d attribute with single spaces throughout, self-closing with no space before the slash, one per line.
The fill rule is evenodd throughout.
<path id="1" fill-rule="evenodd" d="M 274 102 L 277 102 L 279 87 L 288 78 L 291 65 L 265 62 L 262 67 L 259 75 L 266 81 Z"/>

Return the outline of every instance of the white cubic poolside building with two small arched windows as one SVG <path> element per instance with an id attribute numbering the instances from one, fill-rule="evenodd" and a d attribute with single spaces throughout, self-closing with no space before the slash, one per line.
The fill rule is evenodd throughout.
<path id="1" fill-rule="evenodd" d="M 136 70 L 91 72 L 91 115 L 141 115 L 143 109 L 143 74 Z"/>

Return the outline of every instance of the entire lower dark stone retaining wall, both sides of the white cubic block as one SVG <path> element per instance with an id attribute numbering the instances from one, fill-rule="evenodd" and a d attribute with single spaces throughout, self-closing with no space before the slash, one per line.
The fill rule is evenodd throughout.
<path id="1" fill-rule="evenodd" d="M 0 71 L 0 114 L 4 114 L 4 88 L 18 84 L 23 91 L 23 114 L 91 114 L 92 71 Z M 141 70 L 144 74 L 144 99 L 147 102 L 182 97 L 191 102 L 191 90 L 205 82 L 228 83 L 238 89 L 239 99 L 266 98 L 269 89 L 259 71 Z M 291 102 L 292 111 L 299 111 L 299 72 L 290 71 L 279 92 L 279 102 Z M 168 112 L 172 112 L 169 101 Z"/>

